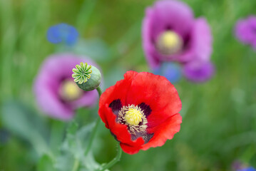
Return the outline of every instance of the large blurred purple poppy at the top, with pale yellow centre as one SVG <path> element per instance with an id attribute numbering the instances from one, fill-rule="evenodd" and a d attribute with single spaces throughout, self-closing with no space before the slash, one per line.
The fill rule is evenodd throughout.
<path id="1" fill-rule="evenodd" d="M 146 10 L 143 48 L 150 68 L 163 61 L 209 61 L 212 35 L 205 19 L 195 19 L 182 1 L 162 0 Z"/>

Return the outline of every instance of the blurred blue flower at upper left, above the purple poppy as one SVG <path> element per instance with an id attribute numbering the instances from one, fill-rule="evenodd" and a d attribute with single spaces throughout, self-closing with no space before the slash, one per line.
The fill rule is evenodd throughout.
<path id="1" fill-rule="evenodd" d="M 65 43 L 72 46 L 78 40 L 79 33 L 73 26 L 68 24 L 57 24 L 48 28 L 47 39 L 51 43 Z"/>

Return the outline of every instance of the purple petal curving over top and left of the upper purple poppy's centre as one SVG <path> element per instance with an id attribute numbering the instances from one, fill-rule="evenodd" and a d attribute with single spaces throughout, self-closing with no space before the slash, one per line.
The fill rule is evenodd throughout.
<path id="1" fill-rule="evenodd" d="M 158 68 L 162 55 L 155 49 L 156 38 L 166 29 L 172 29 L 185 38 L 193 26 L 193 12 L 181 1 L 157 1 L 146 10 L 143 19 L 143 48 L 151 68 Z"/>

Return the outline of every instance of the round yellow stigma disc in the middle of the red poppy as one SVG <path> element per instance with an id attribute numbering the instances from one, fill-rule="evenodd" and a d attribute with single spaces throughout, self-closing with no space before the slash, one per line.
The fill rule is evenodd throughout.
<path id="1" fill-rule="evenodd" d="M 142 121 L 142 117 L 140 111 L 134 108 L 129 108 L 125 115 L 126 122 L 130 125 L 138 125 Z"/>

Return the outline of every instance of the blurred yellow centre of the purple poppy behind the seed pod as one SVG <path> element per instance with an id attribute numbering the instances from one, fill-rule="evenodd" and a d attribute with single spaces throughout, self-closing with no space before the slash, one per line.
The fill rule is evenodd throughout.
<path id="1" fill-rule="evenodd" d="M 83 90 L 78 88 L 76 83 L 72 80 L 63 81 L 61 84 L 60 95 L 63 100 L 72 101 L 81 97 Z"/>

